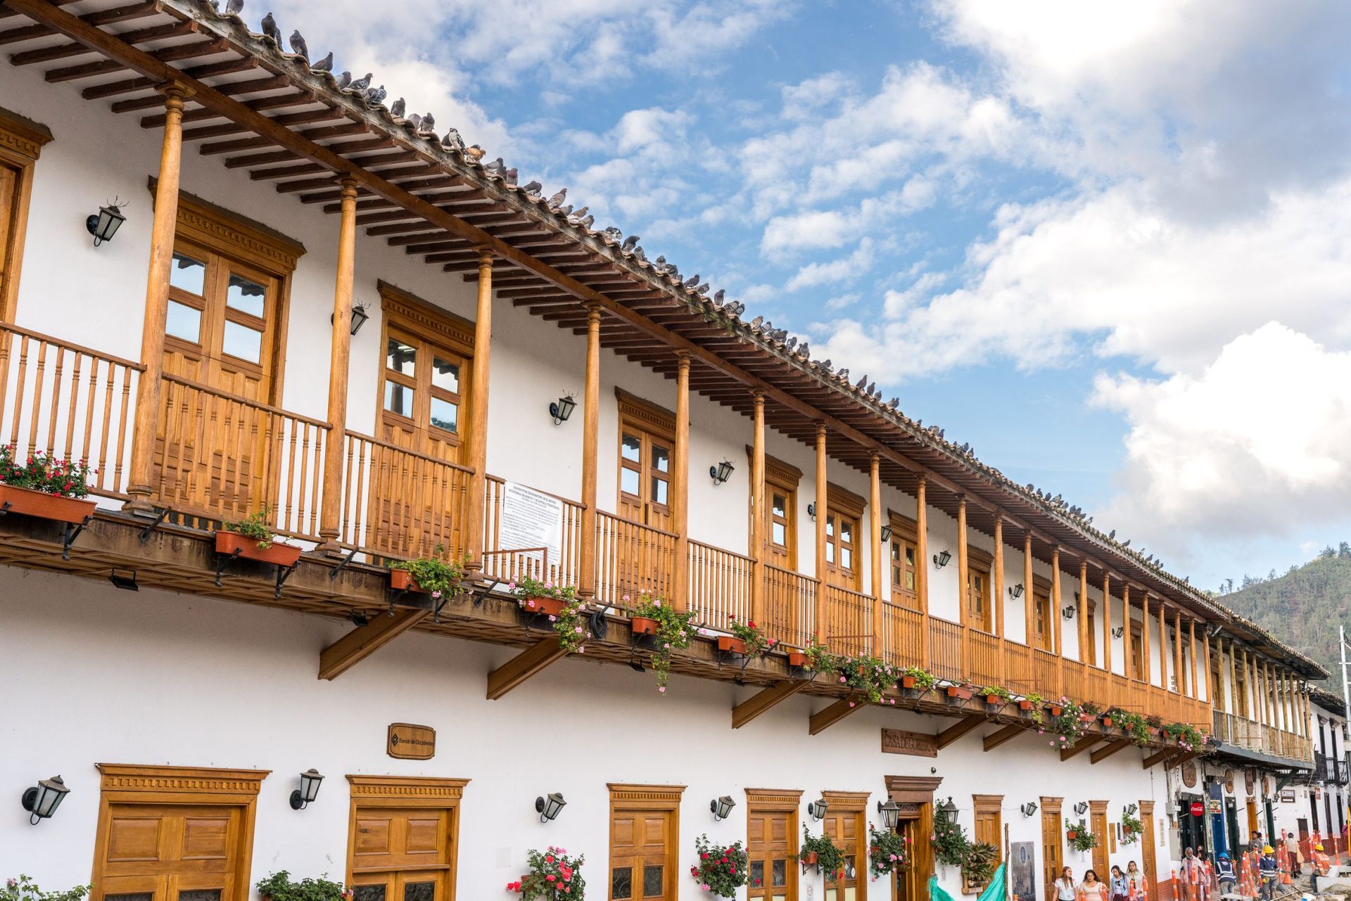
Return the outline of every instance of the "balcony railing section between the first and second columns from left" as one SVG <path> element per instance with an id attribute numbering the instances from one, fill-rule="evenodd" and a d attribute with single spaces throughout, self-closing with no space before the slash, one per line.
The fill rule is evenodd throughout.
<path id="1" fill-rule="evenodd" d="M 155 498 L 178 512 L 238 520 L 269 508 L 281 535 L 319 535 L 328 423 L 165 374 Z"/>

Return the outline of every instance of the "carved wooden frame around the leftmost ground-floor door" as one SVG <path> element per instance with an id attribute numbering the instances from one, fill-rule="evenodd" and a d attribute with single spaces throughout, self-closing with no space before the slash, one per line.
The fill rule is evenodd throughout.
<path id="1" fill-rule="evenodd" d="M 196 766 L 149 766 L 138 763 L 96 763 L 100 774 L 99 824 L 95 832 L 95 896 L 101 896 L 103 862 L 108 852 L 108 827 L 112 805 L 155 804 L 182 806 L 240 808 L 239 854 L 235 860 L 236 885 L 250 889 L 253 866 L 254 815 L 258 792 L 272 770 L 222 770 Z"/>

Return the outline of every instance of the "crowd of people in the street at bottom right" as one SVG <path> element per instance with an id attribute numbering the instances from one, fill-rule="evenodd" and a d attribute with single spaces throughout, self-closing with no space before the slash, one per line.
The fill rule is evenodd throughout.
<path id="1" fill-rule="evenodd" d="M 1312 848 L 1313 877 L 1327 875 L 1332 862 L 1321 843 Z M 1293 886 L 1294 877 L 1304 874 L 1304 852 L 1300 839 L 1293 832 L 1285 832 L 1277 839 L 1277 846 L 1265 844 L 1262 836 L 1254 836 L 1250 850 L 1239 855 L 1238 863 L 1228 854 L 1216 856 L 1215 866 L 1205 858 L 1204 850 L 1186 848 L 1182 865 L 1177 873 L 1177 897 L 1179 901 L 1210 901 L 1212 889 L 1219 894 L 1239 894 L 1271 901 L 1278 885 Z M 1312 882 L 1312 881 L 1310 881 Z M 1061 870 L 1055 881 L 1056 901 L 1147 901 L 1144 874 L 1131 860 L 1121 867 L 1113 866 L 1108 882 L 1098 878 L 1094 870 L 1086 870 L 1081 882 L 1074 881 L 1070 867 Z"/>

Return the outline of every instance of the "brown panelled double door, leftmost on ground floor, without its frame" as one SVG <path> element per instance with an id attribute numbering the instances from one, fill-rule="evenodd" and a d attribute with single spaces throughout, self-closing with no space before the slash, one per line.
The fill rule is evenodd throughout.
<path id="1" fill-rule="evenodd" d="M 247 901 L 243 806 L 112 804 L 93 901 Z"/>

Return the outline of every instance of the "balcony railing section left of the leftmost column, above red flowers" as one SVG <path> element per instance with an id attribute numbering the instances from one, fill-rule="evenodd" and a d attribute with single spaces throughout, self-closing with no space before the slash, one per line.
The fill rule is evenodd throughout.
<path id="1" fill-rule="evenodd" d="M 0 323 L 0 443 L 86 461 L 89 490 L 126 497 L 131 408 L 145 367 Z"/>

